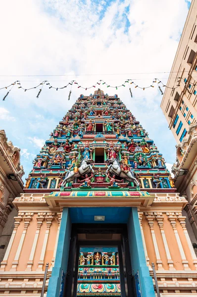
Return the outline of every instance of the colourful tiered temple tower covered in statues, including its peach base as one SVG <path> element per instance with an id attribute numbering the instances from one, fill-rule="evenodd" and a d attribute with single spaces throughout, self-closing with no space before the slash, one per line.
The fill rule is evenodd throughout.
<path id="1" fill-rule="evenodd" d="M 165 160 L 118 95 L 81 95 L 33 161 L 0 296 L 197 297 L 197 256 Z"/>

